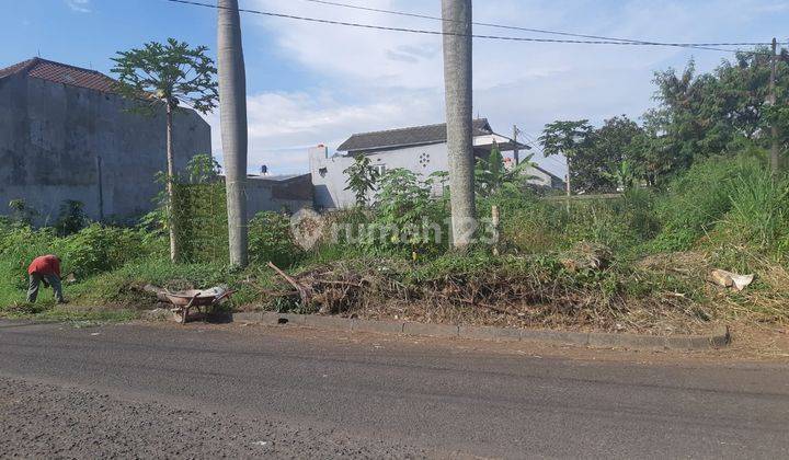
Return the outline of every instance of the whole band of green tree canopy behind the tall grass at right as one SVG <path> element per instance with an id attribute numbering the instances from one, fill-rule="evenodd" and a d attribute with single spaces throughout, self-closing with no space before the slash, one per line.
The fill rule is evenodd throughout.
<path id="1" fill-rule="evenodd" d="M 627 116 L 606 119 L 599 128 L 588 120 L 546 125 L 540 142 L 546 156 L 568 158 L 573 188 L 607 192 L 632 176 L 650 186 L 688 169 L 695 161 L 743 149 L 764 151 L 770 127 L 778 127 L 781 151 L 789 147 L 789 51 L 777 58 L 777 103 L 769 103 L 770 50 L 736 53 L 709 72 L 691 59 L 678 71 L 654 74 L 656 107 L 640 124 Z M 622 182 L 625 180 L 625 182 Z"/>

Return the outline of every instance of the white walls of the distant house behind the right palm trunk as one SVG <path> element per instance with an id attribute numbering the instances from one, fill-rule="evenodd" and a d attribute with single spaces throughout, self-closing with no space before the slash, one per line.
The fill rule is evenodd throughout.
<path id="1" fill-rule="evenodd" d="M 487 119 L 473 120 L 474 156 L 489 156 L 494 143 L 503 152 L 512 151 L 515 147 L 521 151 L 530 149 L 495 134 Z M 445 124 L 355 134 L 338 150 L 345 153 L 329 157 L 329 150 L 323 146 L 310 149 L 309 152 L 315 200 L 319 208 L 343 208 L 355 204 L 353 192 L 345 189 L 347 177 L 343 171 L 359 154 L 369 157 L 380 173 L 403 168 L 426 177 L 436 171 L 449 169 Z M 541 168 L 529 168 L 527 174 L 536 177 L 530 181 L 535 186 L 562 186 L 561 179 Z M 443 191 L 436 186 L 433 192 L 439 195 Z"/>

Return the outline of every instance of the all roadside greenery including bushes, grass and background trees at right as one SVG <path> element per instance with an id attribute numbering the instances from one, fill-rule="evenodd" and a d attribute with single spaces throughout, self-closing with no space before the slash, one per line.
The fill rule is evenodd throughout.
<path id="1" fill-rule="evenodd" d="M 764 106 L 763 62 L 753 56 L 701 76 L 693 62 L 681 74 L 658 73 L 661 105 L 642 125 L 626 117 L 599 129 L 585 120 L 547 125 L 542 146 L 572 150 L 571 179 L 583 199 L 530 187 L 507 173 L 498 152 L 480 161 L 476 207 L 480 218 L 499 210 L 499 238 L 483 219 L 465 251 L 448 239 L 448 194 L 432 193 L 448 192 L 446 174 L 393 170 L 379 177 L 364 159 L 350 171 L 357 206 L 299 223 L 312 225 L 297 231 L 315 235 L 309 250 L 288 214 L 256 216 L 243 269 L 226 262 L 225 189 L 206 156 L 172 194 L 184 242 L 178 264 L 170 262 L 164 206 L 133 226 L 113 226 L 88 222 L 70 203 L 57 223 L 33 229 L 34 210 L 12 203 L 0 223 L 1 314 L 67 314 L 54 308 L 52 292 L 36 306 L 22 301 L 30 261 L 57 253 L 64 273 L 73 274 L 65 289 L 80 306 L 75 314 L 101 307 L 128 318 L 152 309 L 147 285 L 227 285 L 237 290 L 227 307 L 237 310 L 661 334 L 785 323 L 789 179 L 769 168 L 765 133 L 786 114 Z M 789 88 L 788 73 L 781 61 L 779 88 Z M 779 142 L 785 149 L 787 139 Z M 709 281 L 716 268 L 755 280 L 742 291 L 717 286 Z"/>

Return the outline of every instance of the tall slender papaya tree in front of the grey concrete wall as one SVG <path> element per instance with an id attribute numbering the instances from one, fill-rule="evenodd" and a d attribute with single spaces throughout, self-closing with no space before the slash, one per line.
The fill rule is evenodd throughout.
<path id="1" fill-rule="evenodd" d="M 147 43 L 142 48 L 118 51 L 112 71 L 117 73 L 118 92 L 133 100 L 133 110 L 147 115 L 167 113 L 167 194 L 170 229 L 170 258 L 180 258 L 179 222 L 173 218 L 173 181 L 175 151 L 173 117 L 183 103 L 207 114 L 216 107 L 217 72 L 206 56 L 205 46 L 191 48 L 186 43 L 169 38 L 167 44 Z"/>

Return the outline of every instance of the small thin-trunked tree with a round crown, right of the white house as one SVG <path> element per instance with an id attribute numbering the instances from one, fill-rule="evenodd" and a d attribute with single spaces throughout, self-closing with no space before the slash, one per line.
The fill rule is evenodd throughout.
<path id="1" fill-rule="evenodd" d="M 563 154 L 567 159 L 570 182 L 573 179 L 573 163 L 575 158 L 583 154 L 591 147 L 594 128 L 588 119 L 575 122 L 553 122 L 545 126 L 539 141 L 546 157 Z M 572 191 L 571 183 L 568 189 Z"/>

